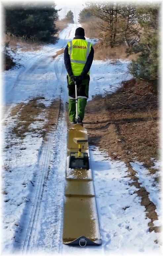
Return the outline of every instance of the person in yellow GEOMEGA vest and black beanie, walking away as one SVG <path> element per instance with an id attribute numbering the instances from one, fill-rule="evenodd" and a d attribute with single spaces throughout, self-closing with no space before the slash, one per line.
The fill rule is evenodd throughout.
<path id="1" fill-rule="evenodd" d="M 83 28 L 77 28 L 75 37 L 68 42 L 64 50 L 64 64 L 67 70 L 68 111 L 71 124 L 83 126 L 84 110 L 87 104 L 90 68 L 93 62 L 94 49 L 92 43 L 85 39 Z M 75 82 L 78 95 L 78 117 L 76 117 Z"/>

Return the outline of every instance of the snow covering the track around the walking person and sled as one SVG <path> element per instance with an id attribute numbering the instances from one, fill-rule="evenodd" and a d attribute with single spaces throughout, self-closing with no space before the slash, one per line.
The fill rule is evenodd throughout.
<path id="1" fill-rule="evenodd" d="M 102 245 L 79 248 L 62 244 L 67 86 L 63 54 L 55 59 L 53 56 L 74 37 L 78 26 L 69 24 L 60 33 L 56 45 L 44 46 L 37 52 L 19 51 L 21 67 L 4 72 L 3 253 L 126 255 L 134 252 L 147 255 L 153 252 L 161 255 L 157 242 L 160 233 L 149 232 L 150 220 L 141 206 L 141 198 L 134 193 L 137 189 L 129 185 L 125 163 L 111 160 L 106 152 L 96 147 L 90 147 L 90 155 Z M 89 100 L 106 91 L 115 91 L 122 80 L 130 79 L 128 64 L 127 60 L 94 61 Z M 13 134 L 13 128 L 18 125 L 20 112 L 11 115 L 11 111 L 17 104 L 27 104 L 38 96 L 42 99 L 37 102 L 46 107 L 60 99 L 58 121 L 45 138 L 32 131 L 19 138 Z M 32 124 L 36 129 L 47 121 L 46 113 L 41 113 L 37 119 Z M 159 189 L 157 187 L 152 194 L 156 204 L 160 204 L 160 200 L 155 200 Z"/>

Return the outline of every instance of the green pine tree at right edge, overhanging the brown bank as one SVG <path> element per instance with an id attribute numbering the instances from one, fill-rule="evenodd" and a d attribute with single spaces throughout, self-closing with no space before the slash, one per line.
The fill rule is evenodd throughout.
<path id="1" fill-rule="evenodd" d="M 130 72 L 138 79 L 151 81 L 155 86 L 158 79 L 159 64 L 159 5 L 137 8 L 139 24 L 143 29 L 141 43 L 128 50 L 129 53 L 139 53 L 136 61 L 132 61 Z"/>

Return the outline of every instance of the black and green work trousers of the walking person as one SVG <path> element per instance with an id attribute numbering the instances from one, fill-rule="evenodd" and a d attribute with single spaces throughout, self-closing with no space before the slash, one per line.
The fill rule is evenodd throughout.
<path id="1" fill-rule="evenodd" d="M 87 104 L 88 91 L 89 91 L 89 81 L 90 76 L 86 75 L 82 80 L 81 84 L 77 86 L 77 95 L 78 95 L 78 116 L 81 120 L 84 119 L 84 110 Z M 71 122 L 75 121 L 76 117 L 76 104 L 75 104 L 75 83 L 71 80 L 69 75 L 67 75 L 68 83 L 68 95 L 69 95 L 69 120 Z"/>

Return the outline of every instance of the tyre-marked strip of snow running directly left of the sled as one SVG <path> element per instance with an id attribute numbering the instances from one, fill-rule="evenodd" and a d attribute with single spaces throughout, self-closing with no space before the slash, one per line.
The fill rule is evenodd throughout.
<path id="1" fill-rule="evenodd" d="M 38 249 L 45 252 L 61 251 L 61 230 L 64 203 L 64 182 L 66 164 L 67 127 L 65 126 L 65 113 L 63 104 L 55 133 L 53 158 L 50 164 L 48 177 L 44 183 L 42 201 L 36 216 L 35 229 L 28 242 L 29 252 Z"/>

